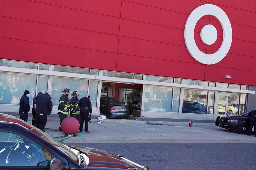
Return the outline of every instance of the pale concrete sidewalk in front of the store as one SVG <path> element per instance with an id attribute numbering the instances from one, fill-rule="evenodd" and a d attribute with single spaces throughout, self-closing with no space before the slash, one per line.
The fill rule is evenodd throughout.
<path id="1" fill-rule="evenodd" d="M 28 122 L 31 123 L 31 118 Z M 58 130 L 59 123 L 59 118 L 50 118 L 45 127 Z M 105 119 L 101 123 L 89 123 L 90 133 L 77 133 L 78 136 L 67 138 L 63 143 L 256 143 L 254 135 L 238 134 L 214 123 L 196 123 L 195 127 L 188 127 L 184 122 L 172 123 L 152 125 L 147 121 Z M 64 135 L 50 129 L 45 132 L 51 136 Z"/>

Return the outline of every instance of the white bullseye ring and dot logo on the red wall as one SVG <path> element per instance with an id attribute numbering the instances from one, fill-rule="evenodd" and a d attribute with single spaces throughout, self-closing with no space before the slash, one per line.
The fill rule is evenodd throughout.
<path id="1" fill-rule="evenodd" d="M 201 52 L 195 43 L 195 26 L 197 21 L 204 15 L 213 15 L 216 17 L 219 20 L 223 30 L 222 44 L 218 51 L 213 54 L 205 54 Z M 203 26 L 200 32 L 201 40 L 206 45 L 212 45 L 215 43 L 217 36 L 217 30 L 211 24 Z M 216 64 L 227 55 L 232 43 L 232 28 L 228 16 L 216 5 L 201 5 L 194 9 L 189 15 L 185 25 L 184 38 L 187 49 L 195 60 L 203 64 Z"/>

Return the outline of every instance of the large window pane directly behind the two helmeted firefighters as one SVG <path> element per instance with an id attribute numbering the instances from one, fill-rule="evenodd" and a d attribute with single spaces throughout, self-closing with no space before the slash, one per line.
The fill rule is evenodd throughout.
<path id="1" fill-rule="evenodd" d="M 70 89 L 71 94 L 74 91 L 77 91 L 80 96 L 78 99 L 81 99 L 85 96 L 85 93 L 88 93 L 88 80 L 82 79 L 71 79 L 71 78 L 59 78 L 53 77 L 53 86 L 52 86 L 52 99 L 53 105 L 58 106 L 62 91 L 64 89 Z M 71 98 L 71 94 L 68 96 Z"/>

